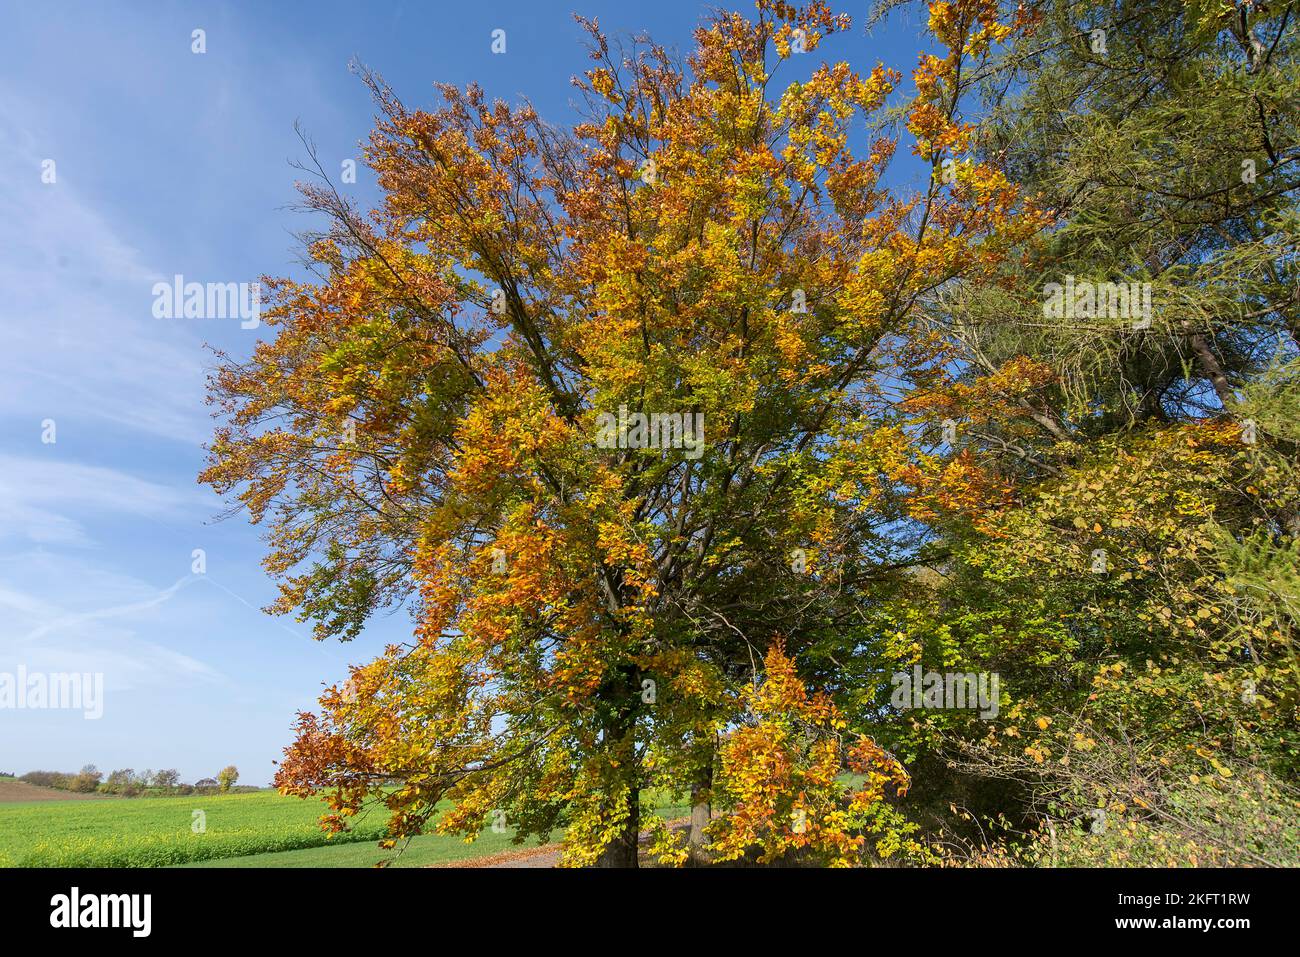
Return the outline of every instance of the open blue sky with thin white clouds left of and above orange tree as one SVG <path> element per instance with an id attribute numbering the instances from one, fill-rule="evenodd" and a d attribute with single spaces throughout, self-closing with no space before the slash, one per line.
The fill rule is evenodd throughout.
<path id="1" fill-rule="evenodd" d="M 905 74 L 919 13 L 815 55 Z M 707 8 L 546 3 L 4 3 L 0 18 L 0 675 L 101 672 L 103 716 L 0 707 L 0 771 L 228 763 L 263 784 L 296 711 L 408 633 L 404 612 L 351 645 L 259 609 L 259 531 L 195 481 L 212 421 L 204 343 L 246 355 L 264 328 L 160 320 L 152 286 L 295 274 L 304 160 L 337 172 L 373 114 L 358 57 L 408 103 L 481 83 L 572 118 L 586 69 L 571 13 L 686 51 Z M 191 52 L 194 30 L 207 52 Z M 506 30 L 504 55 L 491 31 Z M 811 57 L 810 57 L 811 60 Z M 42 173 L 53 160 L 53 182 Z M 48 177 L 47 177 L 48 178 Z M 374 199 L 360 166 L 350 189 Z M 55 441 L 46 442 L 47 420 Z M 203 549 L 207 573 L 191 575 Z"/>

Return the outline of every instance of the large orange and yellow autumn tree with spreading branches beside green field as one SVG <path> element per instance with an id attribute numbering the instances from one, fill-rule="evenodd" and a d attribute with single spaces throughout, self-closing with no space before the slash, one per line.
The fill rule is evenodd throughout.
<path id="1" fill-rule="evenodd" d="M 918 456 L 900 384 L 937 359 L 928 296 L 1044 220 L 961 113 L 1015 14 L 936 3 L 939 53 L 893 104 L 896 72 L 819 62 L 848 26 L 760 0 L 679 61 L 585 23 L 571 129 L 474 86 L 410 109 L 363 70 L 384 203 L 303 186 L 328 221 L 315 278 L 266 281 L 276 338 L 213 376 L 203 475 L 268 524 L 276 611 L 346 640 L 412 609 L 410 642 L 300 716 L 278 775 L 328 792 L 332 826 L 369 802 L 393 840 L 563 824 L 567 863 L 634 866 L 654 794 L 720 788 L 720 849 L 772 853 L 801 843 L 802 798 L 736 781 L 798 719 L 824 797 L 803 788 L 807 833 L 861 853 L 842 802 L 863 820 L 885 788 L 827 781 L 885 758 L 786 668 L 818 702 L 855 693 L 833 667 L 849 625 L 932 560 L 909 498 L 988 492 Z M 901 194 L 900 134 L 935 172 Z M 754 697 L 764 671 L 793 716 Z M 754 830 L 751 798 L 781 819 Z"/>

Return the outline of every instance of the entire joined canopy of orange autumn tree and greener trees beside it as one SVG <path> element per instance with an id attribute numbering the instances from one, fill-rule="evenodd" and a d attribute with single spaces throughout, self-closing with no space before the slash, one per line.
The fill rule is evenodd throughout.
<path id="1" fill-rule="evenodd" d="M 584 21 L 569 127 L 361 70 L 384 203 L 302 186 L 312 278 L 222 356 L 202 477 L 268 525 L 274 611 L 413 627 L 299 716 L 280 787 L 332 827 L 382 805 L 389 846 L 564 827 L 571 865 L 645 831 L 666 863 L 1123 862 L 1139 831 L 1275 861 L 1291 17 L 935 0 L 910 82 L 822 62 L 820 3 L 685 59 Z M 900 706 L 914 668 L 998 680 Z"/>

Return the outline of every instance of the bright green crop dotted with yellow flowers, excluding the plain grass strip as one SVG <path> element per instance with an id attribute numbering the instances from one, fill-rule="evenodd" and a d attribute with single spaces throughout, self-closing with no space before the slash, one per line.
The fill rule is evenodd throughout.
<path id="1" fill-rule="evenodd" d="M 202 818 L 195 814 L 202 811 Z M 343 835 L 321 805 L 276 792 L 204 797 L 0 804 L 0 866 L 164 867 L 247 854 L 376 841 L 380 815 Z M 195 832 L 202 820 L 202 832 Z M 370 846 L 376 857 L 377 848 Z"/>

